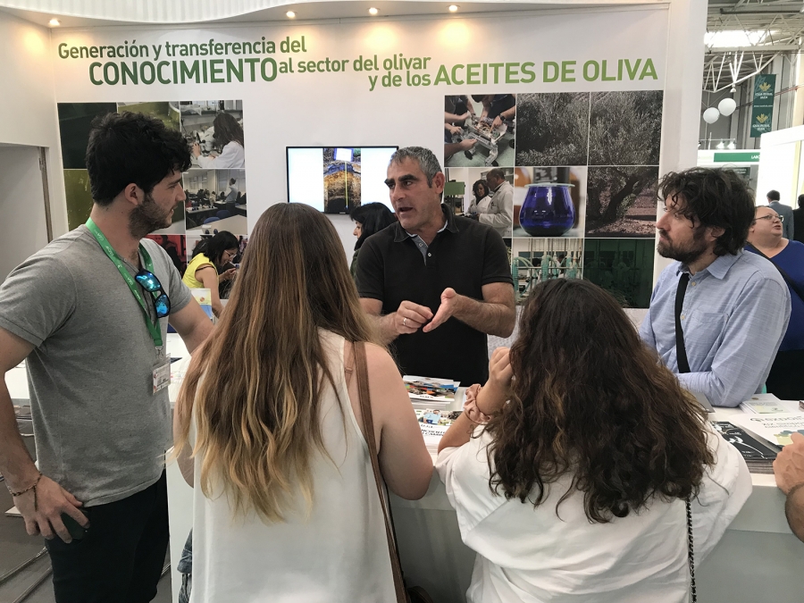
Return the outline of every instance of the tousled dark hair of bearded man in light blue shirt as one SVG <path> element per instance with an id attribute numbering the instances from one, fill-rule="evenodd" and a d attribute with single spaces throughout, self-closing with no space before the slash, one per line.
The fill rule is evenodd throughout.
<path id="1" fill-rule="evenodd" d="M 737 172 L 700 167 L 669 172 L 659 182 L 658 192 L 678 203 L 694 227 L 724 229 L 716 239 L 715 255 L 736 255 L 745 247 L 754 220 L 754 196 Z"/>

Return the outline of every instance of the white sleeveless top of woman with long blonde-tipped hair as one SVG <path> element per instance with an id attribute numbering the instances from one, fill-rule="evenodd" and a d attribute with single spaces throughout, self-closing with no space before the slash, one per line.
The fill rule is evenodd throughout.
<path id="1" fill-rule="evenodd" d="M 395 600 L 368 446 L 349 404 L 343 374 L 344 340 L 321 333 L 342 405 L 328 385 L 321 401 L 321 432 L 332 460 L 314 453 L 310 515 L 304 519 L 305 501 L 299 495 L 285 523 L 263 523 L 253 512 L 234 517 L 220 487 L 216 498 L 204 496 L 196 458 L 191 603 Z"/>

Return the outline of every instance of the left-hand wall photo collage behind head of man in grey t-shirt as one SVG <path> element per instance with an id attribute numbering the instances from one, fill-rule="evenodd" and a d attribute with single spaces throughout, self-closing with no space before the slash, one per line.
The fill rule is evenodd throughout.
<path id="1" fill-rule="evenodd" d="M 183 275 L 202 240 L 228 231 L 239 241 L 239 253 L 230 264 L 239 265 L 248 233 L 243 102 L 240 100 L 59 103 L 69 228 L 72 230 L 87 222 L 92 210 L 85 163 L 91 124 L 107 113 L 124 112 L 143 113 L 163 121 L 167 128 L 181 133 L 191 154 L 191 165 L 181 179 L 184 202 L 174 209 L 171 225 L 155 230 L 148 239 L 163 247 Z M 219 270 L 227 267 L 230 266 L 220 266 Z"/>

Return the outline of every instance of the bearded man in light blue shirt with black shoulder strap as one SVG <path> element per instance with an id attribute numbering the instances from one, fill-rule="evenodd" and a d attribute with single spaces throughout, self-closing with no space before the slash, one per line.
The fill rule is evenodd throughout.
<path id="1" fill-rule="evenodd" d="M 640 328 L 684 388 L 714 406 L 762 391 L 790 319 L 790 293 L 765 258 L 743 251 L 754 201 L 732 170 L 670 172 L 658 186 L 662 271 Z M 680 345 L 677 345 L 678 344 Z"/>

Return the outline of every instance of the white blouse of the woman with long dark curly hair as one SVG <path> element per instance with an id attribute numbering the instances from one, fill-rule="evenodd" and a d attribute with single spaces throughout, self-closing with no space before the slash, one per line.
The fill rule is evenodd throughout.
<path id="1" fill-rule="evenodd" d="M 441 451 L 436 463 L 456 509 L 461 537 L 477 551 L 469 603 L 681 603 L 690 590 L 686 512 L 682 500 L 653 501 L 641 513 L 590 523 L 582 493 L 558 507 L 571 477 L 549 487 L 534 508 L 489 488 L 483 434 L 460 448 Z M 742 456 L 714 431 L 716 455 L 692 503 L 698 565 L 721 539 L 751 492 Z"/>

